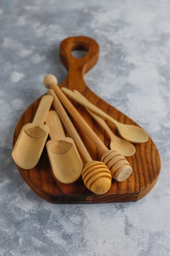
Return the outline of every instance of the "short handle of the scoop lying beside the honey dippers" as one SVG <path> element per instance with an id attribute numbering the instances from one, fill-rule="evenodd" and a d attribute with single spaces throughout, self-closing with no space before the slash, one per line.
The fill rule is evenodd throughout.
<path id="1" fill-rule="evenodd" d="M 49 111 L 45 122 L 49 126 L 49 135 L 52 141 L 58 141 L 66 138 L 60 117 L 55 110 Z"/>

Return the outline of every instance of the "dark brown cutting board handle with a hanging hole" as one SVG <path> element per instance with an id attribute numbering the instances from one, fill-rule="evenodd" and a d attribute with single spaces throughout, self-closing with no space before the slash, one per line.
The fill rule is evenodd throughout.
<path id="1" fill-rule="evenodd" d="M 73 50 L 84 50 L 87 54 L 76 58 L 71 54 Z M 68 70 L 66 84 L 69 89 L 82 91 L 86 88 L 83 75 L 95 65 L 98 56 L 99 45 L 87 36 L 69 37 L 60 43 L 60 59 Z"/>

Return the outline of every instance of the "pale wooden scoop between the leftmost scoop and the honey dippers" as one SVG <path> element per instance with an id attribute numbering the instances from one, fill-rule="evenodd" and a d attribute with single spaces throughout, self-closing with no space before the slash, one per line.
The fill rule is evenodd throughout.
<path id="1" fill-rule="evenodd" d="M 55 110 L 49 112 L 46 124 L 49 126 L 51 137 L 51 140 L 46 143 L 46 149 L 53 174 L 62 183 L 75 182 L 83 168 L 75 143 L 73 139 L 65 137 L 60 118 Z"/>

